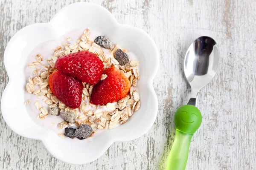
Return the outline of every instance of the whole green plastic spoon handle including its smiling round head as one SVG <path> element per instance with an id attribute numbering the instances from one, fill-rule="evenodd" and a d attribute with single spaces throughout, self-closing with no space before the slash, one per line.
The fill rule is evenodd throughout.
<path id="1" fill-rule="evenodd" d="M 201 112 L 193 105 L 181 106 L 175 113 L 176 136 L 169 154 L 166 170 L 185 170 L 189 145 L 201 125 Z"/>

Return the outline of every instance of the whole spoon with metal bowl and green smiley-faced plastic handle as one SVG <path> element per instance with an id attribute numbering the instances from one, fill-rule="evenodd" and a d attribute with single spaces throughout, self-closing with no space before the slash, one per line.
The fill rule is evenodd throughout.
<path id="1" fill-rule="evenodd" d="M 186 52 L 184 72 L 191 86 L 187 105 L 175 113 L 176 136 L 167 160 L 166 170 L 185 170 L 189 145 L 193 134 L 201 125 L 202 115 L 196 107 L 198 91 L 206 86 L 218 71 L 219 50 L 211 37 L 199 37 Z"/>

